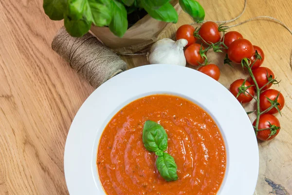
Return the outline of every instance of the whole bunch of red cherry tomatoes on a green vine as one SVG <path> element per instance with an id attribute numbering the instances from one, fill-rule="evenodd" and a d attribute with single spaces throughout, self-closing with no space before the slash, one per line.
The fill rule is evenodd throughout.
<path id="1" fill-rule="evenodd" d="M 237 31 L 226 32 L 228 26 L 217 25 L 207 21 L 200 28 L 191 25 L 182 25 L 176 33 L 176 39 L 186 39 L 188 44 L 184 56 L 190 65 L 198 66 L 198 71 L 218 80 L 220 70 L 216 64 L 208 63 L 207 52 L 225 53 L 224 64 L 240 64 L 247 69 L 249 78 L 237 79 L 230 85 L 230 92 L 240 103 L 256 101 L 256 119 L 253 122 L 256 137 L 260 140 L 271 140 L 280 130 L 280 122 L 273 114 L 280 113 L 284 107 L 283 95 L 269 89 L 273 84 L 278 84 L 271 69 L 263 67 L 265 59 L 263 50 L 244 39 Z M 222 32 L 222 37 L 221 37 Z M 202 44 L 196 43 L 200 39 Z"/>

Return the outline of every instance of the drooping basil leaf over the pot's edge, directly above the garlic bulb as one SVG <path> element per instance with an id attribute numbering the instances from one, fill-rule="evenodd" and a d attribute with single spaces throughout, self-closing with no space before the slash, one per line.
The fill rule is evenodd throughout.
<path id="1" fill-rule="evenodd" d="M 169 2 L 165 3 L 159 9 L 151 9 L 148 7 L 146 0 L 141 0 L 141 3 L 146 12 L 156 20 L 176 23 L 179 19 L 178 13 Z"/>

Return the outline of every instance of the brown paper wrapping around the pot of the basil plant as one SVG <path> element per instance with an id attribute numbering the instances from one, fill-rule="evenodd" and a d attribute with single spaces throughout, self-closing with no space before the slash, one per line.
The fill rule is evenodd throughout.
<path id="1" fill-rule="evenodd" d="M 180 14 L 182 8 L 178 0 L 172 0 L 171 4 Z M 91 32 L 114 52 L 132 54 L 146 49 L 148 45 L 161 39 L 161 36 L 171 25 L 173 23 L 158 21 L 146 15 L 131 26 L 123 38 L 115 36 L 108 27 L 92 26 Z"/>

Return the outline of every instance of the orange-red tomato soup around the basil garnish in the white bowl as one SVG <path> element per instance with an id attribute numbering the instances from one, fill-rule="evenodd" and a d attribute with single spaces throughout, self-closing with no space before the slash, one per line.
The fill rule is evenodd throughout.
<path id="1" fill-rule="evenodd" d="M 166 181 L 154 153 L 142 141 L 146 120 L 162 125 L 165 151 L 177 164 L 176 181 Z M 106 126 L 97 151 L 97 169 L 108 195 L 216 195 L 226 168 L 219 128 L 201 107 L 171 95 L 137 99 Z"/>

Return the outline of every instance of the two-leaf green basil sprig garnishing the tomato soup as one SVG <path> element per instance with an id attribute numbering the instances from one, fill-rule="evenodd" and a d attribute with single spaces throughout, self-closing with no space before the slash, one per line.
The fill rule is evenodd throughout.
<path id="1" fill-rule="evenodd" d="M 177 165 L 172 156 L 164 151 L 167 149 L 167 134 L 160 124 L 147 120 L 143 128 L 143 143 L 149 152 L 157 155 L 156 167 L 166 181 L 178 179 Z"/>

